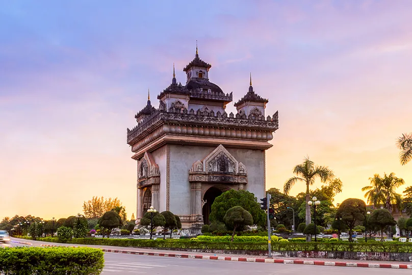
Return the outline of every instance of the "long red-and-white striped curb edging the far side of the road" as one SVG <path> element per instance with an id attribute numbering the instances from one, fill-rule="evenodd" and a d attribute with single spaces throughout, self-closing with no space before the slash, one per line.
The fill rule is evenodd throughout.
<path id="1" fill-rule="evenodd" d="M 262 258 L 235 258 L 235 257 L 223 257 L 223 256 L 203 256 L 203 255 L 189 255 L 189 254 L 124 251 L 124 250 L 114 250 L 114 249 L 102 249 L 102 250 L 104 252 L 123 253 L 123 254 L 132 254 L 132 255 L 147 255 L 147 256 L 161 256 L 161 257 L 174 257 L 174 258 L 203 259 L 203 260 L 221 260 L 221 261 L 235 261 L 235 262 L 412 269 L 412 264 L 410 265 L 408 264 L 370 264 L 370 263 L 281 260 L 281 259 L 262 259 Z"/>

